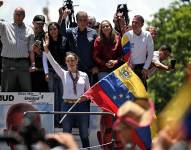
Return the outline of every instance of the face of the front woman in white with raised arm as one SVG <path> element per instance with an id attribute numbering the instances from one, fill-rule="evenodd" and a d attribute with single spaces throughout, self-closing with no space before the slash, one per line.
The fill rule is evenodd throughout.
<path id="1" fill-rule="evenodd" d="M 73 55 L 68 55 L 66 57 L 66 65 L 69 71 L 77 70 L 78 60 Z"/>

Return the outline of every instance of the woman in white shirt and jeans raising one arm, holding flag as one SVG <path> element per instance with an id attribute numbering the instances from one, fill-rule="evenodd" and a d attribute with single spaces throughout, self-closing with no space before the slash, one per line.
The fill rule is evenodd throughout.
<path id="1" fill-rule="evenodd" d="M 48 49 L 49 37 L 46 35 L 44 42 L 44 54 L 47 56 L 50 64 L 62 80 L 63 84 L 63 103 L 62 111 L 68 111 L 71 106 L 76 102 L 78 98 L 80 101 L 72 111 L 75 112 L 88 112 L 90 111 L 89 101 L 84 101 L 85 97 L 82 97 L 83 93 L 90 87 L 88 75 L 85 72 L 77 69 L 78 56 L 73 52 L 67 52 L 65 63 L 68 70 L 64 70 L 54 60 Z M 89 147 L 88 127 L 89 127 L 89 115 L 67 115 L 63 120 L 63 132 L 71 133 L 74 123 L 78 123 L 80 138 L 83 147 Z"/>

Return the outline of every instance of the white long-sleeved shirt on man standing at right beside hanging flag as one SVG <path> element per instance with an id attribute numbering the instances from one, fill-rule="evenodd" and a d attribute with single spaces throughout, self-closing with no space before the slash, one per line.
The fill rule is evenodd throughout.
<path id="1" fill-rule="evenodd" d="M 127 36 L 131 45 L 131 64 L 144 64 L 143 68 L 148 69 L 152 58 L 154 44 L 151 34 L 148 31 L 142 31 L 138 36 L 133 30 L 126 32 L 123 36 Z"/>

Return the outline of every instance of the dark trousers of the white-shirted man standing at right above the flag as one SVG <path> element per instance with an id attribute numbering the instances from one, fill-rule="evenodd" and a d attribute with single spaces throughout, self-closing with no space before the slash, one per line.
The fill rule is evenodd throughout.
<path id="1" fill-rule="evenodd" d="M 144 66 L 144 64 L 134 65 L 133 71 L 141 79 L 141 81 L 143 82 L 143 85 L 145 86 L 145 89 L 147 90 L 147 81 L 143 77 L 143 74 L 142 74 L 143 66 Z"/>

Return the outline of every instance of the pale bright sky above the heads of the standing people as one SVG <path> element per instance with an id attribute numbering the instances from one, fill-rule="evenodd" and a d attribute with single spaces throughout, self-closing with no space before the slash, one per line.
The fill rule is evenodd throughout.
<path id="1" fill-rule="evenodd" d="M 113 14 L 117 5 L 126 3 L 130 10 L 130 19 L 137 14 L 142 15 L 145 20 L 151 20 L 152 14 L 160 8 L 167 8 L 174 0 L 73 0 L 75 13 L 79 10 L 87 11 L 89 15 L 95 16 L 97 21 L 109 20 L 112 22 Z M 4 0 L 4 5 L 0 7 L 0 18 L 11 22 L 13 11 L 21 6 L 26 10 L 25 22 L 31 24 L 36 14 L 43 14 L 42 8 L 48 4 L 51 21 L 58 20 L 58 9 L 63 5 L 63 0 Z"/>

